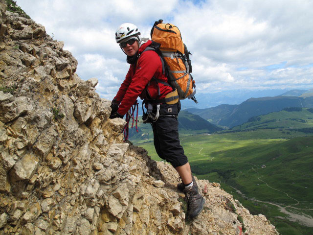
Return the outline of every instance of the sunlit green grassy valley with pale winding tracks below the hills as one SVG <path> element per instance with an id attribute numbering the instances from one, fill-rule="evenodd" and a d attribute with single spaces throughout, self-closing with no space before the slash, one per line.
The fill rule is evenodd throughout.
<path id="1" fill-rule="evenodd" d="M 312 227 L 297 220 L 313 217 L 313 134 L 258 129 L 183 135 L 180 141 L 198 178 L 221 183 L 251 213 L 265 214 L 282 235 L 313 234 Z M 138 145 L 161 161 L 153 141 Z M 285 210 L 296 219 L 277 205 L 290 206 Z"/>

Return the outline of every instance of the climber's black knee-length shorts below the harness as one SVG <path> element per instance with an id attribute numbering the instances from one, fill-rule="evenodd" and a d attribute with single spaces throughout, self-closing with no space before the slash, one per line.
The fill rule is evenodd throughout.
<path id="1" fill-rule="evenodd" d="M 162 104 L 160 105 L 159 118 L 156 122 L 152 122 L 156 153 L 174 167 L 188 163 L 179 141 L 177 118 L 179 110 L 180 102 Z"/>

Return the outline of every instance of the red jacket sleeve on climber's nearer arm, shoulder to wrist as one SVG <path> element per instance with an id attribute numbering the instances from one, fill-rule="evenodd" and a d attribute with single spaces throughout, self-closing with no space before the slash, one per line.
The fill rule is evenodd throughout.
<path id="1" fill-rule="evenodd" d="M 120 115 L 127 113 L 159 68 L 162 69 L 162 63 L 155 51 L 149 50 L 142 53 L 117 113 Z"/>

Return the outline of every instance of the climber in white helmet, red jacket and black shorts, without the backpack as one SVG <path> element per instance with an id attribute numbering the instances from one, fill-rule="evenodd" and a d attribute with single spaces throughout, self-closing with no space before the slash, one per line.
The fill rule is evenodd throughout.
<path id="1" fill-rule="evenodd" d="M 134 24 L 121 24 L 115 32 L 115 40 L 127 55 L 130 69 L 112 100 L 110 118 L 123 118 L 138 96 L 144 100 L 143 103 L 153 103 L 150 108 L 155 115 L 145 122 L 152 125 L 156 153 L 161 159 L 171 163 L 179 173 L 182 183 L 177 187 L 186 195 L 189 218 L 194 218 L 203 210 L 205 200 L 191 175 L 190 164 L 180 145 L 177 117 L 180 101 L 176 99 L 166 102 L 166 98 L 175 91 L 167 83 L 156 51 L 146 50 L 142 53 L 153 42 L 148 40 L 141 44 L 140 31 Z M 153 102 L 156 99 L 163 102 Z"/>

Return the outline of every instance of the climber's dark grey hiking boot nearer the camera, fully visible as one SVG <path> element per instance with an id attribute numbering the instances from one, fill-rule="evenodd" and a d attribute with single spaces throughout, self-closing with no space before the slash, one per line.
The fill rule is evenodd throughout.
<path id="1" fill-rule="evenodd" d="M 194 185 L 192 187 L 185 188 L 183 193 L 185 193 L 187 197 L 188 216 L 191 219 L 195 218 L 203 210 L 205 200 L 199 193 L 198 188 L 196 188 Z"/>

